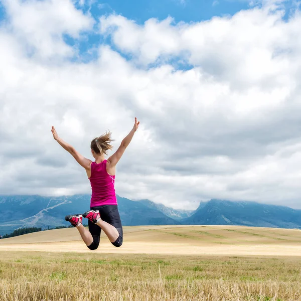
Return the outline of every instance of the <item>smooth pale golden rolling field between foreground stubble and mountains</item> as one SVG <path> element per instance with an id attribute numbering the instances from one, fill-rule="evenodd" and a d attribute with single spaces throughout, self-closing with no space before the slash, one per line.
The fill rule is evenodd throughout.
<path id="1" fill-rule="evenodd" d="M 0 251 L 90 252 L 76 229 L 31 233 L 0 240 Z M 179 255 L 301 255 L 301 231 L 239 226 L 124 227 L 124 244 L 113 247 L 102 233 L 97 253 Z"/>

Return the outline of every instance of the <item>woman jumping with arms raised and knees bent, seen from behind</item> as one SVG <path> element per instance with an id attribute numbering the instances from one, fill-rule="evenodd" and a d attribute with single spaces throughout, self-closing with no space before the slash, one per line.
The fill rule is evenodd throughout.
<path id="1" fill-rule="evenodd" d="M 84 158 L 72 145 L 61 139 L 54 127 L 51 129 L 54 139 L 86 170 L 91 183 L 92 196 L 90 210 L 84 214 L 67 215 L 65 217 L 66 221 L 69 221 L 77 228 L 81 238 L 90 250 L 98 248 L 101 229 L 115 247 L 122 245 L 122 225 L 114 188 L 115 168 L 137 130 L 139 123 L 137 122 L 137 118 L 135 118 L 132 130 L 122 140 L 116 152 L 108 160 L 105 159 L 105 155 L 107 155 L 109 149 L 113 148 L 110 144 L 113 141 L 111 133 L 106 132 L 102 136 L 93 139 L 91 142 L 91 153 L 95 162 Z M 89 230 L 82 225 L 82 217 L 86 217 L 89 220 Z"/>

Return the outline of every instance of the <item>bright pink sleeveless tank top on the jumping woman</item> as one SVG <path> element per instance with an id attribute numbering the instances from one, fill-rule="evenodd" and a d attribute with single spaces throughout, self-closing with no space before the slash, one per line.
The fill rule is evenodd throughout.
<path id="1" fill-rule="evenodd" d="M 117 205 L 115 192 L 115 176 L 110 176 L 106 171 L 106 160 L 91 164 L 91 177 L 89 178 L 92 188 L 90 207 L 102 205 Z"/>

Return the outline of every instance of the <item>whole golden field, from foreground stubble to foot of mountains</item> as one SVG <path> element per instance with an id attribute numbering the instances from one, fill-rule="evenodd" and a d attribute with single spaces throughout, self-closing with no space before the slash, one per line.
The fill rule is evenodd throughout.
<path id="1" fill-rule="evenodd" d="M 301 301 L 300 230 L 140 226 L 124 238 L 96 252 L 76 229 L 1 240 L 0 301 Z"/>

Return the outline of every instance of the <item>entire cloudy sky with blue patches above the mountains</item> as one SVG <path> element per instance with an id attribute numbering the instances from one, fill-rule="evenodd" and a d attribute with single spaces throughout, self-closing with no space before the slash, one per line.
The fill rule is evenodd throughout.
<path id="1" fill-rule="evenodd" d="M 136 116 L 118 195 L 301 209 L 300 28 L 295 1 L 0 0 L 0 194 L 91 193 L 51 126 L 93 159 Z"/>

